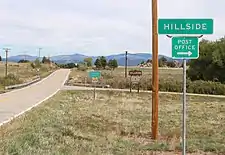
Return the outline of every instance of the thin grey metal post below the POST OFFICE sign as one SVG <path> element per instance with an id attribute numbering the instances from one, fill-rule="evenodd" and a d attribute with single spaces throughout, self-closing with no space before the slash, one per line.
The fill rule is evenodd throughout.
<path id="1" fill-rule="evenodd" d="M 183 59 L 183 130 L 182 130 L 182 155 L 186 154 L 186 59 Z"/>

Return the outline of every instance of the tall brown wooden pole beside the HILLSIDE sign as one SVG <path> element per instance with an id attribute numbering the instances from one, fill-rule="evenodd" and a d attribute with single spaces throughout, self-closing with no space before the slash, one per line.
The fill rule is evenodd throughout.
<path id="1" fill-rule="evenodd" d="M 158 104 L 159 104 L 159 75 L 158 75 L 158 10 L 157 1 L 152 0 L 152 138 L 158 138 Z"/>

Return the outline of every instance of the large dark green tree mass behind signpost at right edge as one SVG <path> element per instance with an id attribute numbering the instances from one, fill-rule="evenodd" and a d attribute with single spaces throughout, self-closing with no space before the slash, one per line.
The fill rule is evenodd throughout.
<path id="1" fill-rule="evenodd" d="M 199 43 L 199 53 L 199 58 L 189 63 L 188 77 L 225 83 L 225 38 L 217 41 L 203 39 Z"/>

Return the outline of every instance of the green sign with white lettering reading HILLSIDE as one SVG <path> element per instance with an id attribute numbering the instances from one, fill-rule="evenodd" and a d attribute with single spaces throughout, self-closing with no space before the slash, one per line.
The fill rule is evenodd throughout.
<path id="1" fill-rule="evenodd" d="M 159 34 L 213 34 L 213 19 L 158 19 Z"/>

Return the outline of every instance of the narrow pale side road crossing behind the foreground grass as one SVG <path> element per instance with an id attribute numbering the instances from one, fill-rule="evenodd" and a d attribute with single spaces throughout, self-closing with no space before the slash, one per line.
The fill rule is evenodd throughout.
<path id="1" fill-rule="evenodd" d="M 83 87 L 83 86 L 64 86 L 61 90 L 93 90 L 94 88 L 91 87 Z M 96 90 L 112 90 L 112 91 L 123 91 L 123 92 L 129 92 L 130 89 L 112 89 L 112 88 L 96 88 Z M 132 92 L 137 92 L 137 90 L 132 90 Z M 151 91 L 143 91 L 140 90 L 140 92 L 151 92 Z M 159 92 L 159 94 L 180 94 L 183 93 L 177 93 L 177 92 Z M 200 97 L 216 97 L 216 98 L 225 98 L 225 95 L 207 95 L 207 94 L 192 94 L 187 93 L 189 96 L 200 96 Z"/>

